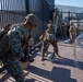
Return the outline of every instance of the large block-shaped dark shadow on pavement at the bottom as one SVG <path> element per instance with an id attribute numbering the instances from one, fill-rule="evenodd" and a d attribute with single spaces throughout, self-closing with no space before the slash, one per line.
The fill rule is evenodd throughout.
<path id="1" fill-rule="evenodd" d="M 70 77 L 71 75 L 70 70 L 64 68 L 54 67 L 51 71 L 46 71 L 37 67 L 29 66 L 27 70 L 34 74 L 37 74 L 42 78 L 45 78 L 54 82 L 76 82 L 76 80 Z M 42 82 L 47 82 L 47 81 L 43 80 Z"/>

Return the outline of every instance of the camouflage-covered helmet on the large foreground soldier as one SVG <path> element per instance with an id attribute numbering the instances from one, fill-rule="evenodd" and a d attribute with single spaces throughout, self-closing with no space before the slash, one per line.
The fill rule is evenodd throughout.
<path id="1" fill-rule="evenodd" d="M 29 22 L 34 27 L 38 25 L 38 17 L 35 14 L 27 14 L 25 16 L 25 22 Z"/>

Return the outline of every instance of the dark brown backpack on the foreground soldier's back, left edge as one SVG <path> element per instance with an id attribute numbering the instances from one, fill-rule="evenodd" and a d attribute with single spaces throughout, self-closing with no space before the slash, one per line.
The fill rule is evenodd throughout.
<path id="1" fill-rule="evenodd" d="M 5 25 L 0 33 L 0 48 L 3 51 L 9 50 L 9 36 L 7 35 L 7 33 L 9 32 L 10 27 L 11 27 L 11 24 Z"/>

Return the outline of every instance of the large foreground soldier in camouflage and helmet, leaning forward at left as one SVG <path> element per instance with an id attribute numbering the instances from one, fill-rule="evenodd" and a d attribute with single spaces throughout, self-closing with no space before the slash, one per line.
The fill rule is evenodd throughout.
<path id="1" fill-rule="evenodd" d="M 8 72 L 15 79 L 15 82 L 25 82 L 25 75 L 20 60 L 25 57 L 24 47 L 28 45 L 31 31 L 37 26 L 38 19 L 34 14 L 25 16 L 23 24 L 11 25 L 10 31 L 4 35 L 0 44 L 1 61 L 7 67 Z M 5 37 L 9 37 L 8 40 Z M 26 44 L 24 44 L 24 42 Z M 9 47 L 8 45 L 9 44 Z M 7 49 L 9 48 L 9 49 Z M 27 47 L 28 55 L 28 47 Z"/>

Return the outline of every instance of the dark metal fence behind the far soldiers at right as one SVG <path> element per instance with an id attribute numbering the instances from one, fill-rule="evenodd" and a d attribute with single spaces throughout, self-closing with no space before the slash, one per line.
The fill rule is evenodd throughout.
<path id="1" fill-rule="evenodd" d="M 61 36 L 61 27 L 62 23 L 67 24 L 67 33 L 69 33 L 69 25 L 73 22 L 78 32 L 78 35 L 80 32 L 83 31 L 83 14 L 80 12 L 71 12 L 71 11 L 62 11 L 59 10 L 59 21 L 58 21 L 58 30 L 57 30 L 57 36 Z"/>

